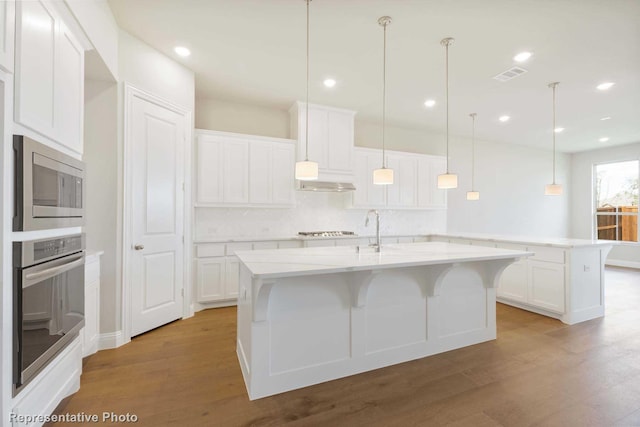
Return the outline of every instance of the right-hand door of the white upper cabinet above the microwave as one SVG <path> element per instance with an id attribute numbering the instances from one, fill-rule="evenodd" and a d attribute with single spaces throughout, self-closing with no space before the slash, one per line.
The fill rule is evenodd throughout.
<path id="1" fill-rule="evenodd" d="M 84 106 L 84 50 L 71 32 L 60 25 L 56 54 L 56 139 L 82 152 Z"/>

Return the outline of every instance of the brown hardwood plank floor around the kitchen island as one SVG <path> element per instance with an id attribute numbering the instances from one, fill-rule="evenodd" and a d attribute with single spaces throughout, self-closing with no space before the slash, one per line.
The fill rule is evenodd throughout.
<path id="1" fill-rule="evenodd" d="M 87 358 L 56 413 L 131 413 L 144 426 L 640 426 L 640 271 L 606 274 L 603 319 L 567 326 L 498 304 L 495 341 L 253 402 L 235 308 L 203 311 Z"/>

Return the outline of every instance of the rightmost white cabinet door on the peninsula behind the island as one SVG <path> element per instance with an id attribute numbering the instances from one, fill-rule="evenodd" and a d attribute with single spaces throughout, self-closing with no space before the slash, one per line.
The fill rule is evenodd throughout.
<path id="1" fill-rule="evenodd" d="M 564 313 L 564 265 L 529 260 L 529 303 Z"/>

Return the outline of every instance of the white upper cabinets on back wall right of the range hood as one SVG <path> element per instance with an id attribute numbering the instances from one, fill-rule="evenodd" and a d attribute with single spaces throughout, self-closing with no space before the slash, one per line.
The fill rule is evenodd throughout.
<path id="1" fill-rule="evenodd" d="M 387 167 L 394 171 L 392 185 L 375 185 L 373 171 L 382 166 L 382 151 L 354 149 L 355 186 L 353 207 L 388 209 L 446 209 L 444 190 L 436 176 L 444 170 L 442 157 L 386 151 Z"/>

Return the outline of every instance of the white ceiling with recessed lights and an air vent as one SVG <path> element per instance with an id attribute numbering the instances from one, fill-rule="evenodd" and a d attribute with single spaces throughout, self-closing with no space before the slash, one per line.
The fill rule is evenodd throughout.
<path id="1" fill-rule="evenodd" d="M 195 72 L 196 97 L 286 110 L 305 97 L 304 0 L 110 0 L 118 24 Z M 310 102 L 380 121 L 387 29 L 387 125 L 444 132 L 444 37 L 451 134 L 558 149 L 640 142 L 638 0 L 313 0 Z M 180 58 L 176 45 L 192 54 Z M 533 53 L 516 64 L 513 56 Z M 492 77 L 518 65 L 527 73 Z M 326 77 L 337 85 L 327 89 Z M 596 85 L 615 82 L 606 92 Z M 432 98 L 435 107 L 423 103 Z M 509 115 L 507 123 L 498 121 Z M 602 121 L 602 117 L 611 117 Z M 608 137 L 606 143 L 599 142 Z"/>

